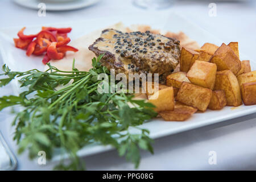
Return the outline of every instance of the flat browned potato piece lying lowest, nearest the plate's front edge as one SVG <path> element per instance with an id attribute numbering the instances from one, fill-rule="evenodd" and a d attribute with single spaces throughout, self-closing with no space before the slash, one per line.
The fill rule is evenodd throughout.
<path id="1" fill-rule="evenodd" d="M 162 111 L 159 114 L 165 121 L 185 121 L 197 111 L 196 108 L 188 105 L 176 105 L 173 111 Z"/>

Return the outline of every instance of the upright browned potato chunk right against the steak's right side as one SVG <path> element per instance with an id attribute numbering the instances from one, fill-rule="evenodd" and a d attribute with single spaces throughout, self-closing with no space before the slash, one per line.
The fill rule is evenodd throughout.
<path id="1" fill-rule="evenodd" d="M 180 71 L 188 72 L 191 61 L 196 60 L 198 56 L 199 52 L 182 47 L 180 52 Z"/>

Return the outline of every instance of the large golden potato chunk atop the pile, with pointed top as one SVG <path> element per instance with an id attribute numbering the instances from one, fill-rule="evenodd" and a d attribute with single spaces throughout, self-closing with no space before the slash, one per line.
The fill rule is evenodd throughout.
<path id="1" fill-rule="evenodd" d="M 214 53 L 210 62 L 217 65 L 217 71 L 230 69 L 234 75 L 241 69 L 241 61 L 238 59 L 232 48 L 226 46 L 224 43 Z"/>

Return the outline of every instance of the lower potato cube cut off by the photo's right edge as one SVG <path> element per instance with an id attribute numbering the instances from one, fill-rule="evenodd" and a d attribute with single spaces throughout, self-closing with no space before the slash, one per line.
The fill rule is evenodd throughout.
<path id="1" fill-rule="evenodd" d="M 242 84 L 241 93 L 245 105 L 256 104 L 256 82 Z"/>

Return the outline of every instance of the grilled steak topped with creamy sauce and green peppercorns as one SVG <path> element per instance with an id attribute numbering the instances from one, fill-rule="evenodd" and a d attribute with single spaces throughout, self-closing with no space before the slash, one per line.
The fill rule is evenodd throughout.
<path id="1" fill-rule="evenodd" d="M 180 59 L 178 40 L 150 31 L 123 33 L 106 29 L 89 50 L 96 56 L 105 53 L 101 63 L 116 73 L 159 73 L 164 79 Z"/>

